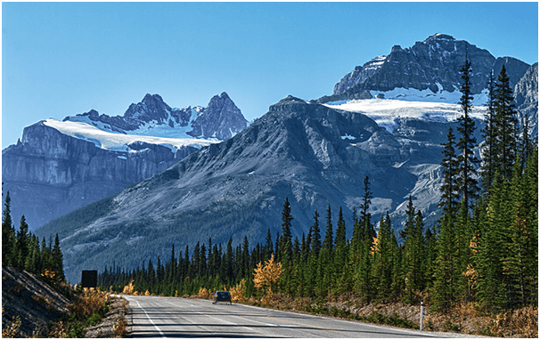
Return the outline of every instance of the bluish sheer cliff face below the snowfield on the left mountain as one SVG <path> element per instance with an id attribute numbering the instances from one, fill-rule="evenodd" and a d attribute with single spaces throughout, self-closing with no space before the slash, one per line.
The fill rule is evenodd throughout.
<path id="1" fill-rule="evenodd" d="M 97 148 L 39 122 L 22 141 L 2 151 L 3 191 L 10 191 L 12 217 L 25 215 L 30 229 L 128 185 L 157 174 L 193 151 L 132 143 L 131 152 Z"/>

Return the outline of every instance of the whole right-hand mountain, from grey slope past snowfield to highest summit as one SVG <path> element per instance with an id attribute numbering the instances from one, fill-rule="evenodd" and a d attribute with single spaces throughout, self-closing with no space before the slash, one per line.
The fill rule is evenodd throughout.
<path id="1" fill-rule="evenodd" d="M 455 46 L 460 51 L 461 43 L 454 44 L 452 39 L 440 35 L 428 39 L 425 53 L 429 57 L 431 51 L 434 60 L 420 65 L 428 68 L 426 72 L 432 77 L 440 71 L 435 57 L 440 56 L 444 61 L 441 65 L 448 66 L 445 77 L 451 78 L 458 56 L 453 57 L 452 51 L 437 54 L 435 48 L 446 44 L 446 49 Z M 397 53 L 403 57 L 410 50 Z M 471 47 L 467 50 L 469 55 L 486 54 L 484 50 L 471 51 Z M 392 59 L 393 66 L 384 67 L 384 74 L 375 69 L 372 75 L 377 73 L 381 82 L 405 78 L 395 68 L 410 68 L 403 63 L 412 60 L 398 57 Z M 388 62 L 386 58 L 380 58 L 380 65 Z M 501 60 L 513 65 L 509 69 L 521 65 L 510 58 Z M 487 61 L 489 73 L 497 59 Z M 530 108 L 531 122 L 537 122 L 537 64 L 534 67 L 514 78 L 516 104 Z M 483 80 L 484 74 L 478 73 L 476 81 Z M 149 257 L 167 258 L 172 244 L 192 249 L 209 238 L 214 244 L 225 244 L 231 238 L 238 244 L 247 236 L 253 246 L 265 239 L 268 229 L 273 235 L 281 231 L 285 198 L 289 198 L 294 217 L 293 237 L 300 239 L 312 225 L 315 209 L 323 215 L 329 204 L 334 219 L 339 207 L 343 208 L 350 236 L 353 209 L 362 202 L 366 175 L 372 183 L 370 212 L 374 221 L 389 211 L 399 235 L 411 196 L 425 217 L 426 228 L 433 227 L 438 220 L 442 183 L 440 144 L 446 142 L 449 126 L 456 131 L 461 93 L 457 90 L 459 83 L 453 88 L 443 76 L 435 82 L 437 93 L 430 90 L 427 80 L 425 88 L 413 87 L 414 82 L 421 84 L 413 78 L 411 83 L 400 83 L 408 87 L 390 89 L 372 82 L 372 87 L 359 92 L 351 87 L 354 91 L 313 101 L 289 96 L 225 142 L 203 147 L 114 197 L 46 224 L 37 234 L 59 233 L 70 279 L 78 279 L 81 268 L 102 269 L 112 264 L 112 259 L 130 268 Z M 483 86 L 477 86 L 471 112 L 477 141 L 482 140 Z M 537 123 L 532 127 L 537 131 Z M 203 132 L 201 129 L 197 134 Z"/>

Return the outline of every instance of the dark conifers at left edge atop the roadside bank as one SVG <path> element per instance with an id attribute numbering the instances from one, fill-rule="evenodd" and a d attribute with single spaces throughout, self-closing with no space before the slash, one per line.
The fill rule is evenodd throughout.
<path id="1" fill-rule="evenodd" d="M 20 217 L 19 231 L 12 223 L 11 198 L 5 195 L 2 213 L 2 265 L 12 266 L 22 271 L 43 275 L 53 281 L 64 281 L 63 255 L 58 234 L 49 240 L 41 240 L 29 231 L 24 215 Z"/>

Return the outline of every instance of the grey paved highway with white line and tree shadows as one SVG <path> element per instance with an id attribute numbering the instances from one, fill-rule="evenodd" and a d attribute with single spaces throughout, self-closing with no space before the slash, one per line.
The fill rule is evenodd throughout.
<path id="1" fill-rule="evenodd" d="M 402 328 L 209 300 L 123 295 L 131 337 L 440 337 Z M 454 336 L 444 334 L 444 336 Z"/>

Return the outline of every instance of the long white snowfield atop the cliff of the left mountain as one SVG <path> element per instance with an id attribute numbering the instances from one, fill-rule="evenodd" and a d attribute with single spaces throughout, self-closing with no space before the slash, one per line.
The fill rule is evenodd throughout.
<path id="1" fill-rule="evenodd" d="M 112 151 L 132 151 L 128 146 L 133 142 L 147 142 L 149 144 L 156 144 L 167 147 L 168 149 L 176 152 L 176 150 L 191 146 L 193 148 L 200 149 L 203 146 L 216 143 L 215 141 L 188 138 L 168 138 L 168 137 L 155 137 L 149 135 L 131 135 L 131 134 L 116 134 L 107 131 L 103 131 L 101 128 L 95 126 L 96 122 L 87 124 L 83 122 L 73 121 L 58 121 L 56 119 L 46 119 L 44 124 L 60 131 L 62 134 L 67 134 L 72 137 L 93 142 L 98 148 Z M 156 125 L 156 128 L 160 128 L 160 125 Z"/>

